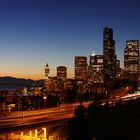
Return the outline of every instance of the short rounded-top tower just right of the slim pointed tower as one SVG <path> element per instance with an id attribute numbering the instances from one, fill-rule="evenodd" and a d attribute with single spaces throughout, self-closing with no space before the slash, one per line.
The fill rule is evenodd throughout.
<path id="1" fill-rule="evenodd" d="M 66 81 L 66 79 L 67 79 L 67 67 L 65 67 L 65 66 L 58 66 L 57 67 L 57 78 L 61 79 L 62 81 Z"/>

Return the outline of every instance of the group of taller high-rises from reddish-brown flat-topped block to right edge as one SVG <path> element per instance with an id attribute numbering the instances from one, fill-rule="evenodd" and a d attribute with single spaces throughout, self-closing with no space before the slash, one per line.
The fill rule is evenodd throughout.
<path id="1" fill-rule="evenodd" d="M 88 80 L 94 84 L 108 86 L 117 79 L 128 79 L 138 82 L 139 78 L 139 41 L 126 41 L 124 49 L 124 70 L 120 68 L 120 60 L 115 53 L 113 29 L 103 30 L 103 55 L 90 55 L 89 65 L 84 56 L 75 57 L 75 78 Z"/>

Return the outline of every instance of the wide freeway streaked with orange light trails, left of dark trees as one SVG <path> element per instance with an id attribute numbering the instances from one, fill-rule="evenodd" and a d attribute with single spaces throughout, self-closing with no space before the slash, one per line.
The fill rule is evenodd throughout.
<path id="1" fill-rule="evenodd" d="M 83 105 L 88 106 L 89 103 L 84 102 Z M 71 118 L 74 115 L 74 109 L 79 104 L 71 103 L 40 110 L 5 112 L 0 114 L 0 129 Z"/>

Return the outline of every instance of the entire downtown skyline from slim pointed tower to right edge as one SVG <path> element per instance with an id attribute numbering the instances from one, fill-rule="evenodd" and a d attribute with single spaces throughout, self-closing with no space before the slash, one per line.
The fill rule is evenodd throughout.
<path id="1" fill-rule="evenodd" d="M 90 86 L 109 87 L 118 79 L 139 83 L 139 40 L 127 40 L 124 49 L 124 69 L 120 68 L 120 60 L 115 53 L 113 29 L 103 29 L 103 54 L 90 55 L 89 63 L 86 56 L 75 56 L 74 79 L 67 79 L 67 68 L 57 67 L 57 77 L 49 77 L 49 67 L 45 67 L 45 80 L 48 90 L 59 90 L 75 84 L 83 92 Z M 49 77 L 49 78 L 48 78 Z M 63 86 L 62 86 L 63 85 Z M 55 88 L 55 89 L 54 89 Z"/>

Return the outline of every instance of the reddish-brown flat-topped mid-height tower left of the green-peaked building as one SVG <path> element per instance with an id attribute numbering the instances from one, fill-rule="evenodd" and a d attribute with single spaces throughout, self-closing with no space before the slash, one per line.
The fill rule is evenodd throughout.
<path id="1" fill-rule="evenodd" d="M 87 57 L 75 57 L 75 79 L 87 81 Z"/>

